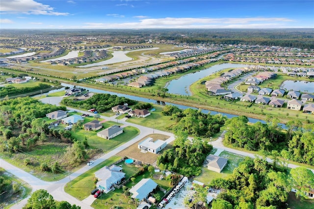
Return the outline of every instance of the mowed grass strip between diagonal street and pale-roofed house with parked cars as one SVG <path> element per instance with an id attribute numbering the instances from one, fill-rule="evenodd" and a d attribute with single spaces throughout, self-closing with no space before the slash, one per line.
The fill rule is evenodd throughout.
<path id="1" fill-rule="evenodd" d="M 94 173 L 99 169 L 103 168 L 104 166 L 108 166 L 120 159 L 121 157 L 119 156 L 113 156 L 106 159 L 105 161 L 91 168 L 87 172 L 81 174 L 71 182 L 67 183 L 64 187 L 64 191 L 72 195 L 73 197 L 77 198 L 78 200 L 85 199 L 90 195 L 90 191 L 93 190 L 95 187 Z"/>

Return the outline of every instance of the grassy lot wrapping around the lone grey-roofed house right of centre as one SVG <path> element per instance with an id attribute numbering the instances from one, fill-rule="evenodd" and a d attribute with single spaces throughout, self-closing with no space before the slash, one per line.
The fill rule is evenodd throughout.
<path id="1" fill-rule="evenodd" d="M 207 165 L 205 165 L 204 168 L 202 169 L 201 175 L 195 177 L 194 180 L 197 180 L 208 185 L 213 179 L 226 178 L 232 174 L 233 170 L 244 159 L 243 156 L 235 155 L 233 153 L 229 153 L 226 151 L 223 151 L 219 156 L 228 158 L 228 164 L 224 167 L 221 173 L 210 171 L 207 169 Z"/>

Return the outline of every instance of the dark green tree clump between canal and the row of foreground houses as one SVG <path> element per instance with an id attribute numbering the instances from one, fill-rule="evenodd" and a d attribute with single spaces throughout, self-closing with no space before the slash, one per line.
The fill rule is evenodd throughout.
<path id="1" fill-rule="evenodd" d="M 65 98 L 61 102 L 66 106 L 79 107 L 83 109 L 95 108 L 98 112 L 105 112 L 111 109 L 111 107 L 118 104 L 136 104 L 136 101 L 130 100 L 125 97 L 118 97 L 117 95 L 111 94 L 94 94 L 91 98 L 87 100 L 78 101 L 76 98 Z"/>

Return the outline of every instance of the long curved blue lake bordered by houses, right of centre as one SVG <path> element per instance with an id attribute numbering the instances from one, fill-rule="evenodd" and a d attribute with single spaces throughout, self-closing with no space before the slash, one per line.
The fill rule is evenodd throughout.
<path id="1" fill-rule="evenodd" d="M 219 65 L 214 65 L 210 68 L 201 70 L 196 73 L 190 73 L 185 76 L 182 76 L 178 79 L 171 80 L 167 85 L 166 88 L 169 90 L 170 94 L 181 94 L 181 95 L 192 95 L 189 88 L 190 85 L 196 82 L 199 79 L 205 78 L 210 76 L 211 74 L 221 71 L 226 68 L 243 68 L 248 67 L 249 65 L 244 64 L 231 64 L 231 63 L 223 63 Z"/>

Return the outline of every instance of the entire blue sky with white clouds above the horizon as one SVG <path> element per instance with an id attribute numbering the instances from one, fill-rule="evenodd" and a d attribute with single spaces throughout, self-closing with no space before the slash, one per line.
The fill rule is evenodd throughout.
<path id="1" fill-rule="evenodd" d="M 314 28 L 314 0 L 1 0 L 0 28 Z"/>

